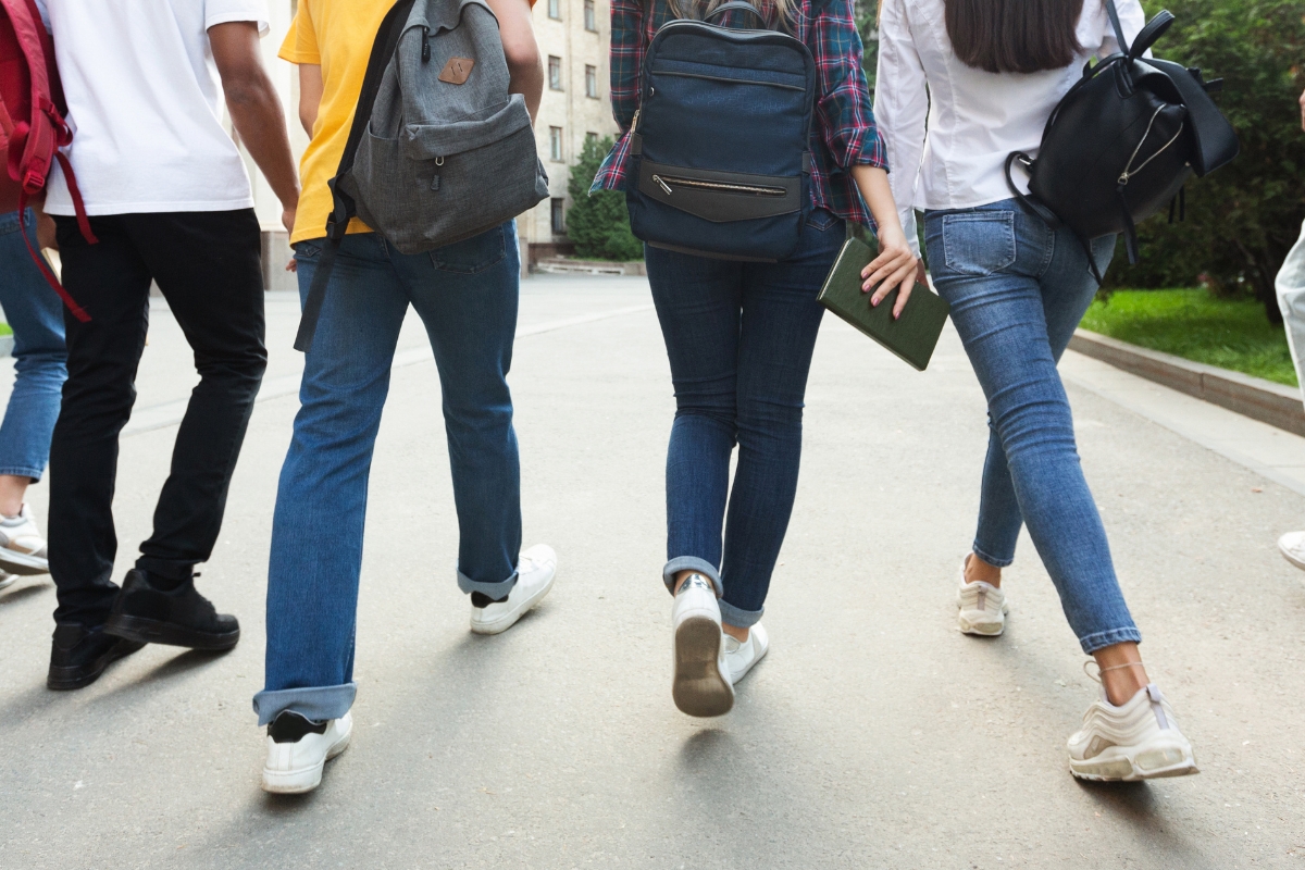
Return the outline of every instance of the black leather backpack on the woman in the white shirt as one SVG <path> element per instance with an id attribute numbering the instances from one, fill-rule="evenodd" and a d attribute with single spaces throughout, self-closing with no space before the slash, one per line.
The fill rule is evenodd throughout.
<path id="1" fill-rule="evenodd" d="M 1135 224 L 1165 205 L 1171 219 L 1176 203 L 1181 214 L 1188 177 L 1237 157 L 1237 134 L 1210 98 L 1223 80 L 1207 82 L 1199 69 L 1142 57 L 1172 14 L 1158 14 L 1129 46 L 1114 0 L 1105 0 L 1105 9 L 1121 53 L 1088 63 L 1048 119 L 1037 159 L 1023 151 L 1006 159 L 1006 183 L 1051 226 L 1071 230 L 1086 250 L 1088 240 L 1122 232 L 1135 263 Z M 1028 196 L 1011 179 L 1015 160 L 1028 168 Z M 1087 260 L 1100 283 L 1091 253 Z"/>

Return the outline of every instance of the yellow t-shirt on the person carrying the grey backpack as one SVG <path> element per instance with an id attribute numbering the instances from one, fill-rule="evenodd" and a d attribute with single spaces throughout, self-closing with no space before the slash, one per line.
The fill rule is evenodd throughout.
<path id="1" fill-rule="evenodd" d="M 313 138 L 299 162 L 303 192 L 295 231 L 290 233 L 291 244 L 326 236 L 326 218 L 331 211 L 326 183 L 339 168 L 372 43 L 393 5 L 394 0 L 299 0 L 299 12 L 290 23 L 279 56 L 292 64 L 321 64 L 322 102 Z M 348 231 L 371 232 L 371 228 L 354 218 Z"/>

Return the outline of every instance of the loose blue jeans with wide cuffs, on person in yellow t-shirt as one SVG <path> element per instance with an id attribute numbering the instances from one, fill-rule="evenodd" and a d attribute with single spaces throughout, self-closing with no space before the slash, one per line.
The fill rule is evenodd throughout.
<path id="1" fill-rule="evenodd" d="M 305 297 L 320 241 L 296 245 Z M 500 599 L 517 582 L 521 467 L 506 374 L 519 295 L 513 222 L 423 254 L 376 233 L 345 239 L 304 360 L 281 470 L 268 571 L 268 660 L 258 723 L 292 710 L 338 719 L 354 703 L 354 629 L 367 480 L 399 327 L 425 323 L 444 393 L 458 511 L 458 586 Z"/>

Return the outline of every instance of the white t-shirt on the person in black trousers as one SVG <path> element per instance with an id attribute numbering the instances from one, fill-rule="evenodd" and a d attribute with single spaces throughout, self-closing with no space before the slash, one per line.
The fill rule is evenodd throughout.
<path id="1" fill-rule="evenodd" d="M 253 207 L 249 176 L 222 129 L 209 27 L 253 21 L 265 0 L 38 0 L 55 35 L 89 214 Z M 73 214 L 63 173 L 46 210 Z"/>

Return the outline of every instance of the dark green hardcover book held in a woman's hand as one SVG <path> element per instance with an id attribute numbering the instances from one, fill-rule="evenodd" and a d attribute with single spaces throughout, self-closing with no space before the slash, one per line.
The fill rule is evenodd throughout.
<path id="1" fill-rule="evenodd" d="M 860 239 L 843 243 L 843 249 L 821 287 L 820 304 L 923 372 L 933 356 L 951 308 L 946 300 L 920 284 L 915 286 L 898 320 L 893 320 L 893 305 L 900 291 L 894 290 L 878 307 L 872 307 L 872 293 L 861 292 L 861 270 L 874 257 L 874 252 Z"/>

